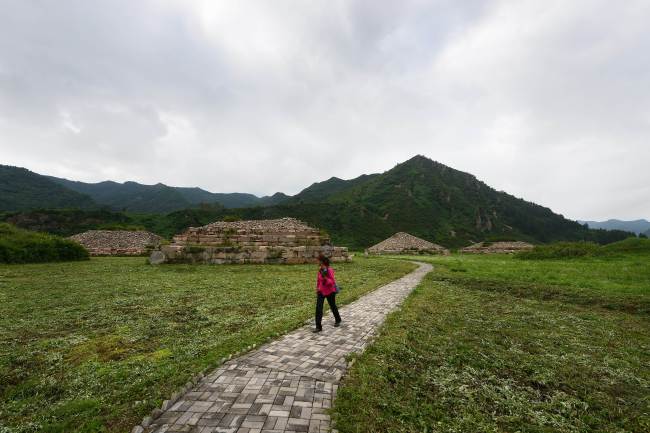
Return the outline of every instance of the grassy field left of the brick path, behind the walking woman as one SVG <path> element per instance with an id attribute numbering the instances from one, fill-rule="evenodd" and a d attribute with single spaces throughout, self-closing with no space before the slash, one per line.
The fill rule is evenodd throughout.
<path id="1" fill-rule="evenodd" d="M 413 268 L 337 264 L 337 298 Z M 130 431 L 191 376 L 301 325 L 313 314 L 315 274 L 313 265 L 144 258 L 0 265 L 0 432 Z"/>

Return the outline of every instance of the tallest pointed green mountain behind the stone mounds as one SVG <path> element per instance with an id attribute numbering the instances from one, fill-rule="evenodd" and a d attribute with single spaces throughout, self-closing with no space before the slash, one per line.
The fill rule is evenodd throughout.
<path id="1" fill-rule="evenodd" d="M 329 205 L 334 214 L 345 211 L 357 215 L 361 228 L 353 233 L 340 220 L 309 215 L 305 206 L 316 203 Z M 397 231 L 451 247 L 506 239 L 607 242 L 630 235 L 589 230 L 548 208 L 496 191 L 471 174 L 423 156 L 382 174 L 349 181 L 331 178 L 313 184 L 288 200 L 283 210 L 291 216 L 302 214 L 310 222 L 321 221 L 321 227 L 355 246 L 368 246 Z M 260 212 L 272 213 L 270 209 Z"/>

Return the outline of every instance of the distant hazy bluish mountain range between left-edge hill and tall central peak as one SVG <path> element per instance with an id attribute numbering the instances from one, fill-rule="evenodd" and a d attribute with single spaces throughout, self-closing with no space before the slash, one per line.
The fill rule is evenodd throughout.
<path id="1" fill-rule="evenodd" d="M 87 194 L 98 204 L 114 210 L 140 213 L 167 213 L 199 204 L 219 204 L 226 208 L 275 204 L 286 198 L 282 193 L 257 197 L 244 193 L 212 193 L 201 188 L 167 186 L 162 183 L 143 185 L 137 182 L 113 181 L 85 183 L 49 177 L 73 191 Z"/>

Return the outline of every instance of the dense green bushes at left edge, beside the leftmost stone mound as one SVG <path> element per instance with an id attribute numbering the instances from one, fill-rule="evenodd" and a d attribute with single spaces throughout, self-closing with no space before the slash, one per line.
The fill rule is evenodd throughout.
<path id="1" fill-rule="evenodd" d="M 44 263 L 88 259 L 76 242 L 0 223 L 0 263 Z"/>

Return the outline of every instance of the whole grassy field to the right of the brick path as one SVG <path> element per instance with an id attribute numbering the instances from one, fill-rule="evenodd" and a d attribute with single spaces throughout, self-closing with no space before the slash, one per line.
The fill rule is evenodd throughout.
<path id="1" fill-rule="evenodd" d="M 435 265 L 340 388 L 341 432 L 650 431 L 650 256 Z"/>

